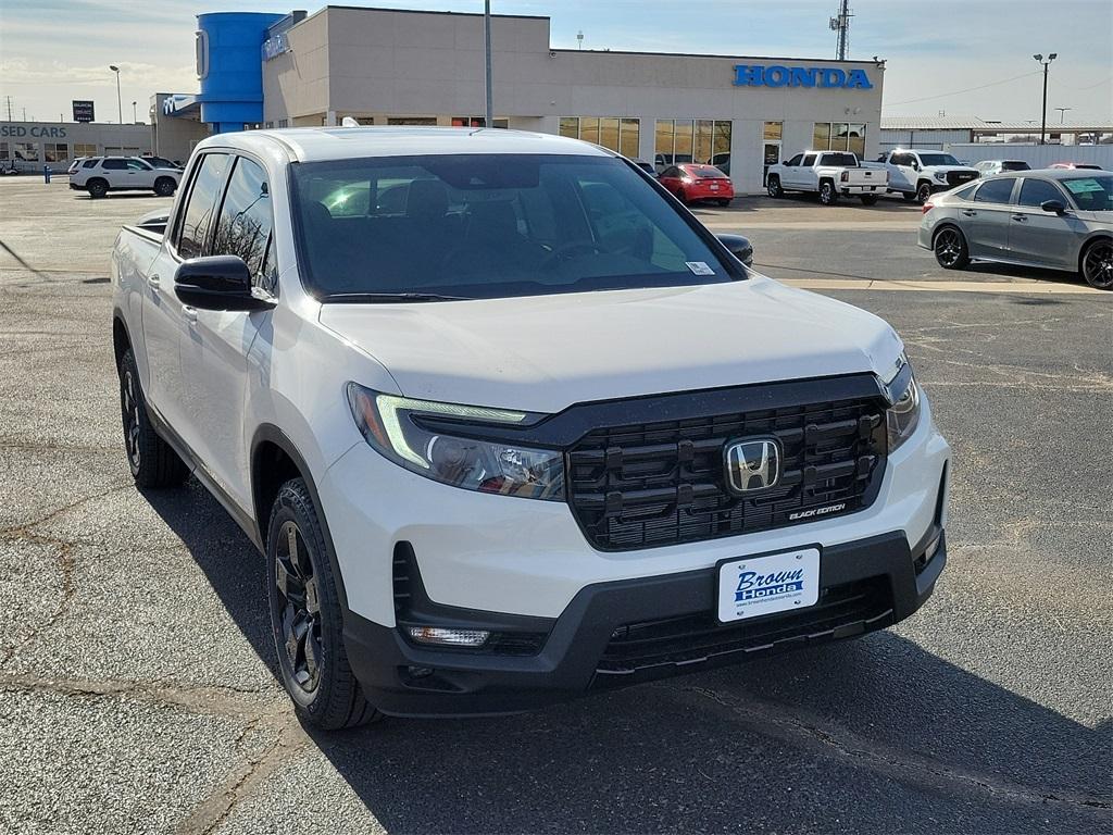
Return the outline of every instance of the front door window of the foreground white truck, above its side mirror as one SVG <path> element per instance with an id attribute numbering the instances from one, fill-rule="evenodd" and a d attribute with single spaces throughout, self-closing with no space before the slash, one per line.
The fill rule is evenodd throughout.
<path id="1" fill-rule="evenodd" d="M 266 171 L 254 160 L 239 157 L 228 178 L 210 253 L 238 255 L 247 264 L 255 284 L 267 286 L 263 281 L 264 258 L 273 225 Z"/>

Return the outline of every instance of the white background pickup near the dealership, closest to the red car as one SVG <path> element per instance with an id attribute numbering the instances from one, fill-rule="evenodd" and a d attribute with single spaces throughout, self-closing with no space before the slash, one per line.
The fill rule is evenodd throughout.
<path id="1" fill-rule="evenodd" d="M 887 176 L 876 167 L 863 167 L 858 156 L 845 150 L 805 150 L 787 163 L 769 167 L 766 188 L 770 197 L 786 191 L 814 191 L 825 206 L 834 206 L 840 195 L 857 196 L 873 206 L 885 194 Z"/>

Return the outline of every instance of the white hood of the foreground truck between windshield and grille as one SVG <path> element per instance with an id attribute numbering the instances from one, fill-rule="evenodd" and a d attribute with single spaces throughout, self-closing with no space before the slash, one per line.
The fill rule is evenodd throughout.
<path id="1" fill-rule="evenodd" d="M 382 363 L 406 396 L 544 413 L 598 400 L 884 374 L 902 351 L 876 316 L 764 276 L 522 298 L 324 304 L 319 321 Z"/>

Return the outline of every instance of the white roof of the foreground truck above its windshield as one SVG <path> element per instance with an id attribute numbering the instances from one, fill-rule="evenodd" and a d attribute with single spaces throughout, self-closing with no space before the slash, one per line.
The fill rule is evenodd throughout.
<path id="1" fill-rule="evenodd" d="M 611 156 L 579 139 L 503 128 L 358 127 L 287 128 L 218 134 L 201 146 L 250 149 L 277 144 L 302 163 L 359 157 L 441 154 L 573 154 Z"/>

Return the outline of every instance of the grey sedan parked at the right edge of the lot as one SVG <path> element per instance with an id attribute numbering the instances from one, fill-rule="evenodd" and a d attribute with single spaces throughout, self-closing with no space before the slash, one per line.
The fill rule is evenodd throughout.
<path id="1" fill-rule="evenodd" d="M 1076 170 L 987 177 L 924 206 L 919 245 L 946 269 L 994 261 L 1081 274 L 1113 289 L 1113 175 Z"/>

